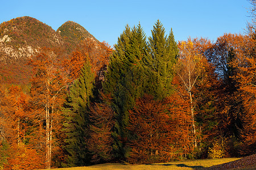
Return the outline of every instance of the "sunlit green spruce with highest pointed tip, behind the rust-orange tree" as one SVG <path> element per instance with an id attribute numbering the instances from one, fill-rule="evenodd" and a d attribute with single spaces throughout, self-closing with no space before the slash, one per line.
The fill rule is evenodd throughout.
<path id="1" fill-rule="evenodd" d="M 179 49 L 174 39 L 174 33 L 170 32 L 165 35 L 163 24 L 158 20 L 154 29 L 151 31 L 152 36 L 148 38 L 149 57 L 147 65 L 155 75 L 153 86 L 156 86 L 155 94 L 157 98 L 163 99 L 171 94 L 171 81 L 174 76 L 173 66 L 176 62 Z"/>

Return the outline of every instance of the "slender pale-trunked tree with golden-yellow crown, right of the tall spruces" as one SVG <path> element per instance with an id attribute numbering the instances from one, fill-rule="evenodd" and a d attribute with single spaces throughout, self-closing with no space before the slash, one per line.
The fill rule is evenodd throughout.
<path id="1" fill-rule="evenodd" d="M 207 60 L 204 52 L 209 48 L 211 43 L 206 39 L 188 39 L 188 41 L 179 42 L 180 56 L 176 63 L 176 73 L 184 84 L 185 89 L 188 91 L 191 103 L 191 119 L 193 127 L 193 143 L 197 147 L 196 141 L 196 125 L 195 125 L 195 92 L 194 86 L 198 79 L 203 75 L 205 68 L 204 64 Z"/>

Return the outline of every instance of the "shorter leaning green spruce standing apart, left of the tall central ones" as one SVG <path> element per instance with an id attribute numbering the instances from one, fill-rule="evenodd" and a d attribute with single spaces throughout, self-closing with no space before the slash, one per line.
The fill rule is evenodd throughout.
<path id="1" fill-rule="evenodd" d="M 85 139 L 89 130 L 89 103 L 93 97 L 94 74 L 87 61 L 80 76 L 70 88 L 67 102 L 63 108 L 65 151 L 68 152 L 64 167 L 84 166 L 90 163 L 90 154 Z"/>

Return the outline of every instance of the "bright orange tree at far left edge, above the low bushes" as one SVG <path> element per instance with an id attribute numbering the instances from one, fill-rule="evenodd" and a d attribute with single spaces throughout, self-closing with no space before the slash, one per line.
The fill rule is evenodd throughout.
<path id="1" fill-rule="evenodd" d="M 2 91 L 2 138 L 6 138 L 10 143 L 18 145 L 24 141 L 26 118 L 29 117 L 28 112 L 30 112 L 28 99 L 28 95 L 24 94 L 18 86 L 9 87 L 7 92 Z"/>

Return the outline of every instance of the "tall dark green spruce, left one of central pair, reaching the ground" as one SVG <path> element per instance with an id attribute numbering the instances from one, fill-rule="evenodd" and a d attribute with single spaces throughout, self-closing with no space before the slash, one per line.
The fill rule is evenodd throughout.
<path id="1" fill-rule="evenodd" d="M 144 58 L 146 57 L 146 36 L 141 25 L 125 31 L 118 37 L 118 43 L 110 57 L 104 91 L 113 97 L 112 107 L 116 114 L 114 150 L 119 159 L 127 158 L 129 138 L 129 110 L 135 100 L 144 94 Z"/>

